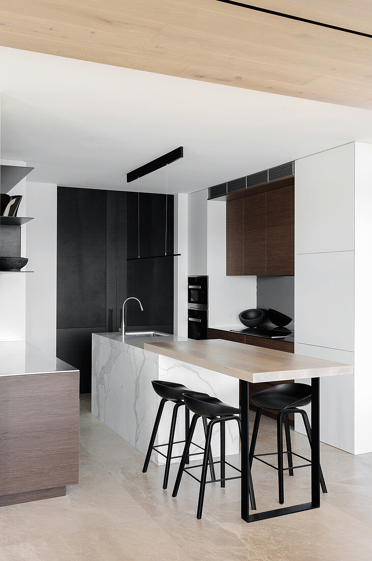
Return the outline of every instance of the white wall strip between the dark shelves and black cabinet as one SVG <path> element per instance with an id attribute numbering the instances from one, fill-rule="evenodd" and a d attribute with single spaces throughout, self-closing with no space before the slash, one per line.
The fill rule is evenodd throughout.
<path id="1" fill-rule="evenodd" d="M 27 181 L 26 340 L 55 355 L 57 325 L 57 185 Z"/>

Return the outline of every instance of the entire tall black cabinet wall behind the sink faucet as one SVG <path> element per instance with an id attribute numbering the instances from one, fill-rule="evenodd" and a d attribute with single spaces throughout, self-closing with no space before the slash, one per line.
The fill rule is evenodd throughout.
<path id="1" fill-rule="evenodd" d="M 139 204 L 138 204 L 139 203 Z M 91 389 L 91 335 L 117 332 L 125 298 L 128 328 L 173 333 L 174 197 L 58 187 L 57 356 Z M 166 238 L 165 238 L 166 231 Z M 140 260 L 129 260 L 140 256 Z"/>

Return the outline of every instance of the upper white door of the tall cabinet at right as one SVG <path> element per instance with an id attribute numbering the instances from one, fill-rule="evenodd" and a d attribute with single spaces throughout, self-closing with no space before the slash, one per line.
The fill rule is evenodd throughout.
<path id="1" fill-rule="evenodd" d="M 295 252 L 354 250 L 354 142 L 295 163 Z"/>

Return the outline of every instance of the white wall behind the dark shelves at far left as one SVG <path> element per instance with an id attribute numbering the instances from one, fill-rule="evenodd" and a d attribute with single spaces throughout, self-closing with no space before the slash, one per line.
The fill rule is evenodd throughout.
<path id="1" fill-rule="evenodd" d="M 25 162 L 1 160 L 2 164 L 26 165 Z M 10 195 L 22 195 L 18 216 L 26 216 L 26 179 L 13 187 Z M 21 256 L 27 257 L 25 226 L 21 229 Z M 26 269 L 30 269 L 29 264 Z M 30 273 L 32 274 L 32 273 Z M 0 341 L 24 341 L 26 338 L 26 277 L 29 273 L 0 273 Z"/>

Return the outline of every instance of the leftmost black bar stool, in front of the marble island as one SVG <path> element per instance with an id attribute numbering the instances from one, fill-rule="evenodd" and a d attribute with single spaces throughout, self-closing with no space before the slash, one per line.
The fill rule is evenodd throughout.
<path id="1" fill-rule="evenodd" d="M 159 404 L 159 408 L 157 410 L 156 419 L 155 419 L 155 423 L 154 423 L 154 428 L 152 429 L 150 443 L 148 444 L 146 459 L 145 459 L 145 463 L 143 464 L 142 472 L 146 473 L 146 471 L 147 471 L 148 464 L 150 463 L 150 457 L 151 457 L 152 450 L 155 450 L 155 452 L 157 452 L 158 454 L 161 454 L 161 456 L 164 456 L 164 458 L 166 458 L 166 462 L 165 462 L 165 472 L 164 472 L 164 480 L 163 480 L 162 488 L 166 489 L 167 486 L 168 486 L 169 470 L 170 470 L 171 460 L 175 459 L 175 458 L 181 458 L 181 456 L 172 456 L 173 445 L 185 442 L 185 440 L 177 440 L 176 442 L 174 442 L 174 433 L 175 433 L 175 429 L 176 429 L 178 410 L 181 406 L 183 406 L 185 404 L 184 401 L 183 401 L 183 393 L 184 392 L 190 392 L 190 393 L 198 395 L 198 396 L 207 396 L 208 394 L 193 392 L 192 390 L 190 390 L 189 388 L 186 388 L 182 384 L 176 384 L 175 382 L 170 382 L 170 381 L 166 381 L 166 380 L 152 380 L 151 384 L 152 384 L 152 387 L 154 388 L 155 392 L 157 393 L 157 395 L 161 397 L 161 401 L 160 401 L 160 404 Z M 155 442 L 155 438 L 156 438 L 156 434 L 157 434 L 157 429 L 159 429 L 161 415 L 162 415 L 162 412 L 164 410 L 164 406 L 165 406 L 166 402 L 168 402 L 168 401 L 174 403 L 173 415 L 172 415 L 172 420 L 171 420 L 171 424 L 170 424 L 169 441 L 166 442 L 165 444 L 157 444 L 156 446 L 154 446 L 154 442 Z M 187 438 L 187 435 L 188 435 L 189 425 L 190 425 L 190 411 L 188 410 L 187 407 L 185 407 L 185 439 Z M 206 438 L 207 438 L 207 420 L 204 421 L 204 434 L 206 435 Z M 192 444 L 194 446 L 196 446 L 197 448 L 200 448 L 202 450 L 202 452 L 193 452 L 192 454 L 188 454 L 188 456 L 186 458 L 186 460 L 187 460 L 186 463 L 189 463 L 189 456 L 197 456 L 198 454 L 203 454 L 204 453 L 204 448 L 202 446 L 199 446 L 198 444 L 195 444 L 194 442 Z M 166 454 L 163 454 L 158 449 L 158 448 L 162 448 L 164 446 L 168 446 L 168 450 L 167 450 Z M 211 450 L 210 450 L 210 457 L 211 457 L 211 464 L 210 464 L 211 478 L 212 478 L 212 480 L 214 480 L 216 478 L 216 475 L 215 475 L 215 468 L 213 467 L 213 458 L 212 458 Z"/>

